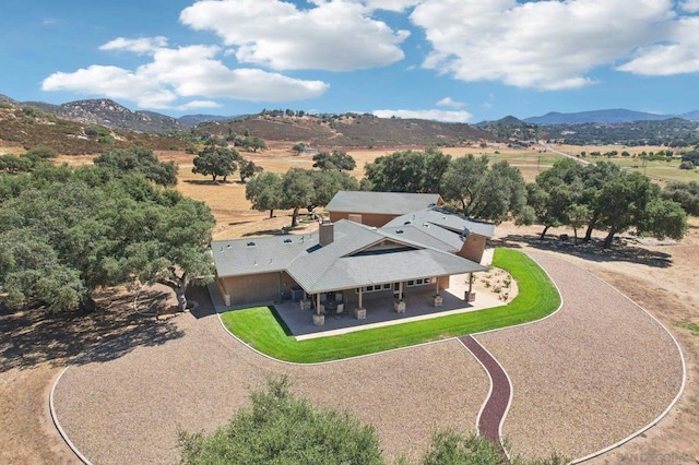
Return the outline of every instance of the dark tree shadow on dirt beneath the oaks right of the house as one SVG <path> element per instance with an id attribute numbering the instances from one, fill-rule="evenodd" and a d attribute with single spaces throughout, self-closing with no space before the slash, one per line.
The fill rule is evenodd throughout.
<path id="1" fill-rule="evenodd" d="M 602 240 L 592 239 L 589 242 L 579 240 L 578 245 L 574 245 L 572 238 L 562 240 L 548 236 L 540 239 L 538 236 L 529 235 L 508 235 L 500 239 L 491 240 L 494 247 L 521 249 L 523 246 L 529 246 L 534 249 L 565 253 L 592 262 L 629 262 L 662 269 L 672 266 L 672 255 L 670 253 L 632 246 L 624 238 L 615 238 L 613 247 L 609 249 L 603 249 L 602 243 Z"/>

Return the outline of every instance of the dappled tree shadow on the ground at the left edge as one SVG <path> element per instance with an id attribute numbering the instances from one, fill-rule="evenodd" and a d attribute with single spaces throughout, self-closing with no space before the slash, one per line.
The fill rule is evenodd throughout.
<path id="1" fill-rule="evenodd" d="M 162 293 L 144 294 L 146 300 L 162 301 Z M 135 347 L 162 345 L 185 334 L 174 320 L 157 321 L 135 313 L 131 293 L 105 290 L 95 300 L 94 311 L 58 314 L 0 306 L 0 372 L 44 362 L 63 366 L 68 361 L 106 361 Z M 75 358 L 82 353 L 85 356 Z"/>

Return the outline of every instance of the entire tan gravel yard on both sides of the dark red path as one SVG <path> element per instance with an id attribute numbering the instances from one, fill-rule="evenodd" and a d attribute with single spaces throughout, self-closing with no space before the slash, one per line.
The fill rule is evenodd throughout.
<path id="1" fill-rule="evenodd" d="M 564 297 L 553 317 L 475 336 L 507 370 L 503 424 L 514 453 L 581 456 L 637 431 L 677 394 L 682 358 L 668 334 L 594 275 L 532 254 Z M 98 464 L 173 463 L 176 431 L 212 430 L 268 373 L 287 373 L 315 404 L 377 426 L 389 460 L 416 457 L 435 428 L 473 430 L 489 383 L 457 341 L 316 366 L 262 357 L 215 315 L 175 320 L 178 337 L 71 366 L 56 386 L 58 420 Z"/>

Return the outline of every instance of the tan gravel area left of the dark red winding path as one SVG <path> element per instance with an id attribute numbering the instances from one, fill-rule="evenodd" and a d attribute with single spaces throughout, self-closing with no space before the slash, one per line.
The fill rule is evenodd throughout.
<path id="1" fill-rule="evenodd" d="M 321 366 L 269 360 L 230 337 L 215 315 L 182 314 L 167 341 L 97 354 L 57 385 L 58 419 L 95 464 L 173 463 L 177 427 L 213 430 L 270 373 L 316 405 L 348 409 L 379 432 L 389 460 L 424 452 L 436 428 L 472 431 L 489 382 L 457 341 Z M 109 349 L 112 350 L 112 349 Z M 109 350 L 105 350 L 106 353 Z"/>

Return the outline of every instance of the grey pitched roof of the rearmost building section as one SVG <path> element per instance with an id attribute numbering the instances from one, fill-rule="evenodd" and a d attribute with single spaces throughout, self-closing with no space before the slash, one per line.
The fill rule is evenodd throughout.
<path id="1" fill-rule="evenodd" d="M 441 203 L 439 194 L 407 192 L 340 191 L 327 212 L 403 215 Z"/>

